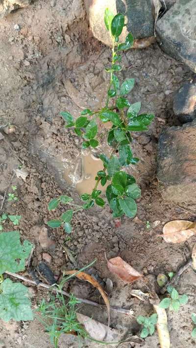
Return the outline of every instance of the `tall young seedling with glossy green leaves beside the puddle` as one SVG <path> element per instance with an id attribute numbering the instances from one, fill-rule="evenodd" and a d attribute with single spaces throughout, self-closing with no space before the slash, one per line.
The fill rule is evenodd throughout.
<path id="1" fill-rule="evenodd" d="M 101 197 L 101 186 L 107 185 L 106 198 L 113 211 L 113 217 L 119 218 L 124 214 L 133 218 L 137 213 L 136 199 L 141 196 L 140 187 L 132 175 L 126 173 L 123 167 L 129 164 L 137 164 L 139 158 L 133 157 L 131 132 L 147 131 L 154 115 L 140 114 L 141 102 L 131 104 L 127 94 L 134 87 L 134 78 L 127 78 L 120 83 L 117 77 L 118 71 L 122 70 L 121 52 L 133 46 L 133 36 L 129 33 L 124 43 L 119 43 L 119 36 L 123 31 L 125 18 L 119 13 L 114 16 L 109 9 L 105 10 L 104 22 L 112 39 L 112 62 L 105 70 L 110 76 L 105 106 L 99 110 L 85 109 L 74 120 L 68 112 L 62 112 L 66 128 L 73 128 L 74 133 L 83 139 L 82 148 L 96 148 L 98 141 L 97 120 L 103 123 L 110 121 L 112 126 L 108 131 L 107 142 L 111 146 L 111 156 L 108 158 L 104 153 L 99 155 L 103 162 L 103 169 L 98 171 L 95 178 L 95 187 L 91 194 L 84 193 L 80 196 L 83 203 L 73 204 L 73 199 L 68 196 L 60 196 L 49 202 L 49 210 L 58 207 L 59 204 L 67 204 L 70 209 L 64 212 L 60 218 L 48 221 L 51 228 L 64 227 L 65 232 L 71 233 L 71 220 L 73 214 L 79 210 L 90 209 L 94 205 L 104 207 L 105 201 Z"/>

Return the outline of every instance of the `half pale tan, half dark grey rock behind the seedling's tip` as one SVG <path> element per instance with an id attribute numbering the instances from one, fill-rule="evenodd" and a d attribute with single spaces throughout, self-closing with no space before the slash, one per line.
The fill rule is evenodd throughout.
<path id="1" fill-rule="evenodd" d="M 154 17 L 151 0 L 85 0 L 90 27 L 94 36 L 105 45 L 111 46 L 112 42 L 104 24 L 105 8 L 114 14 L 126 14 L 127 26 L 124 27 L 120 37 L 125 40 L 128 32 L 134 39 L 148 38 L 154 35 Z"/>

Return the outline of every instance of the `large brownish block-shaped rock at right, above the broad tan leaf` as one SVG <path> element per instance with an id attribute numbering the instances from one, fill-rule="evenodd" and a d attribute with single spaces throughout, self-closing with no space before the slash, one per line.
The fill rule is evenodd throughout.
<path id="1" fill-rule="evenodd" d="M 157 178 L 165 200 L 196 203 L 196 120 L 160 135 Z"/>

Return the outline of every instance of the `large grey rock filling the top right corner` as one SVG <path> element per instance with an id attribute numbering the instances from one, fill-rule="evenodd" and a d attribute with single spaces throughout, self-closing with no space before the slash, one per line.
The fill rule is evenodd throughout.
<path id="1" fill-rule="evenodd" d="M 161 49 L 196 72 L 196 0 L 177 0 L 156 23 Z"/>

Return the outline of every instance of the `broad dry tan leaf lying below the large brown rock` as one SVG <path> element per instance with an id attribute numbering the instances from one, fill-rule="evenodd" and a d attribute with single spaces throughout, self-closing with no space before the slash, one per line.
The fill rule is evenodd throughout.
<path id="1" fill-rule="evenodd" d="M 163 239 L 168 243 L 185 242 L 196 234 L 196 223 L 186 220 L 168 222 L 163 228 Z"/>

